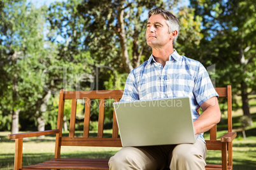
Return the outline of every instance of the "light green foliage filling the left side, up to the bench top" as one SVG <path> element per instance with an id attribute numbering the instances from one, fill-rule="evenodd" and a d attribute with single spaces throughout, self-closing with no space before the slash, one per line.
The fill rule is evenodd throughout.
<path id="1" fill-rule="evenodd" d="M 53 96 L 48 100 L 47 94 L 57 94 L 62 88 L 90 89 L 94 81 L 90 65 L 94 60 L 89 52 L 74 50 L 75 36 L 69 44 L 45 39 L 46 6 L 36 9 L 31 3 L 25 5 L 25 1 L 1 1 L 1 4 L 0 95 L 4 99 L 0 101 L 1 129 L 10 129 L 8 120 L 13 110 L 20 110 L 20 116 L 34 120 L 35 125 L 41 117 L 54 127 L 57 112 L 50 112 L 54 110 Z M 54 33 L 50 30 L 46 36 Z"/>

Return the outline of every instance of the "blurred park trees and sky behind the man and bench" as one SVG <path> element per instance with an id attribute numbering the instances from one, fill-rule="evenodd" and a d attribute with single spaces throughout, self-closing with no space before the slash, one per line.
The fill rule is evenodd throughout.
<path id="1" fill-rule="evenodd" d="M 234 128 L 256 136 L 253 0 L 1 0 L 0 131 L 56 128 L 60 89 L 124 89 L 129 72 L 151 55 L 145 30 L 155 7 L 180 20 L 176 51 L 203 63 L 215 87 L 232 86 L 239 118 Z M 97 121 L 93 110 L 91 120 Z"/>

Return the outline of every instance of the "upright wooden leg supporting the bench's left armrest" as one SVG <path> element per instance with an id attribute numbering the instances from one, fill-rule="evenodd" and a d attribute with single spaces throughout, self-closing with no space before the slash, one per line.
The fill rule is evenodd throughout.
<path id="1" fill-rule="evenodd" d="M 23 139 L 15 139 L 14 169 L 22 168 L 22 147 Z"/>

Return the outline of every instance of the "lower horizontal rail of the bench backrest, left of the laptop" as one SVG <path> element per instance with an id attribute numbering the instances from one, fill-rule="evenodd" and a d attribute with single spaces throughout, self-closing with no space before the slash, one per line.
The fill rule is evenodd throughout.
<path id="1" fill-rule="evenodd" d="M 62 146 L 78 147 L 122 147 L 120 138 L 60 138 Z"/>

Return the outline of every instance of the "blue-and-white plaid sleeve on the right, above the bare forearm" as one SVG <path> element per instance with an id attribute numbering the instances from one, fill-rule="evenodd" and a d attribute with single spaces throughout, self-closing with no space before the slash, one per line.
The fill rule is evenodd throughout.
<path id="1" fill-rule="evenodd" d="M 204 103 L 204 101 L 212 98 L 213 96 L 218 97 L 218 93 L 213 87 L 213 83 L 211 82 L 209 74 L 201 63 L 199 65 L 199 72 L 195 79 L 193 93 L 199 105 Z"/>

